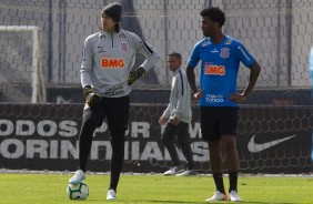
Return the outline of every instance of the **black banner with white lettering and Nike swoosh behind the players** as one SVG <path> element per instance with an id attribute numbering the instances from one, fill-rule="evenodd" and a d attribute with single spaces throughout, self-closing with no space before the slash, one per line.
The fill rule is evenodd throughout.
<path id="1" fill-rule="evenodd" d="M 79 157 L 82 104 L 0 104 L 0 169 L 74 171 Z M 162 173 L 172 163 L 161 142 L 163 105 L 131 105 L 123 172 Z M 190 124 L 195 169 L 211 173 L 199 109 Z M 241 109 L 238 151 L 243 173 L 309 173 L 312 108 Z M 103 121 L 93 135 L 88 170 L 109 172 L 111 145 Z M 184 161 L 180 152 L 181 161 Z M 226 167 L 225 167 L 226 170 Z"/>

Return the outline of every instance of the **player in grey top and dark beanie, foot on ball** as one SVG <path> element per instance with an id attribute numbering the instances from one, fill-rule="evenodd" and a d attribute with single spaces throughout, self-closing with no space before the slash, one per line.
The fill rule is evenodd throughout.
<path id="1" fill-rule="evenodd" d="M 79 166 L 69 180 L 71 184 L 85 180 L 93 132 L 107 119 L 112 145 L 111 181 L 107 200 L 117 198 L 124 160 L 130 85 L 152 69 L 160 58 L 154 48 L 137 34 L 120 28 L 121 13 L 122 6 L 118 2 L 104 7 L 101 31 L 89 35 L 84 41 L 80 73 L 85 105 L 79 135 Z M 145 57 L 145 61 L 132 71 L 137 53 Z"/>

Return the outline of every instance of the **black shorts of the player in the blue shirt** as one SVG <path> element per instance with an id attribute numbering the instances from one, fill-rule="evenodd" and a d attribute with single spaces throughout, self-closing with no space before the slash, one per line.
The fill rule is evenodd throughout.
<path id="1" fill-rule="evenodd" d="M 200 106 L 201 134 L 204 141 L 221 140 L 221 135 L 235 135 L 239 108 Z"/>

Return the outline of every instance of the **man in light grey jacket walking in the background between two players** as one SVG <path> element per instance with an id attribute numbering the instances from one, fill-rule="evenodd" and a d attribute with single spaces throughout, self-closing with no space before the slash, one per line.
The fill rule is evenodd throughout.
<path id="1" fill-rule="evenodd" d="M 182 57 L 173 52 L 168 57 L 168 65 L 173 72 L 170 103 L 159 119 L 161 125 L 166 124 L 162 142 L 169 151 L 173 166 L 164 175 L 195 175 L 193 155 L 190 146 L 189 123 L 192 119 L 191 91 L 184 70 L 181 69 Z M 188 162 L 188 169 L 180 165 L 174 139 L 178 139 L 182 153 Z"/>

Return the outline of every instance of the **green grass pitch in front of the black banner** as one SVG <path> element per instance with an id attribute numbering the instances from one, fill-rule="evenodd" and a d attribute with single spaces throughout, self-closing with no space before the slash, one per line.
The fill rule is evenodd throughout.
<path id="1" fill-rule="evenodd" d="M 67 204 L 67 203 L 205 203 L 214 191 L 213 178 L 165 177 L 163 175 L 121 175 L 118 200 L 107 201 L 109 175 L 88 175 L 90 194 L 87 201 L 70 201 L 65 187 L 70 175 L 0 174 L 1 204 Z M 228 187 L 228 177 L 224 177 Z M 243 203 L 313 203 L 313 177 L 240 176 L 239 193 Z M 231 203 L 231 202 L 216 202 Z"/>

